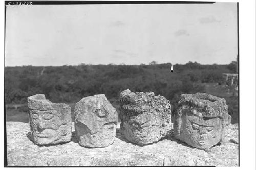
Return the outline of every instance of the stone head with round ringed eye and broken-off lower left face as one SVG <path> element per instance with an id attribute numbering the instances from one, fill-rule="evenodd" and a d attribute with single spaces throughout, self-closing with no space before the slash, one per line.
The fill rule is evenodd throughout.
<path id="1" fill-rule="evenodd" d="M 108 147 L 116 136 L 117 111 L 104 94 L 88 96 L 75 106 L 75 130 L 83 147 Z"/>

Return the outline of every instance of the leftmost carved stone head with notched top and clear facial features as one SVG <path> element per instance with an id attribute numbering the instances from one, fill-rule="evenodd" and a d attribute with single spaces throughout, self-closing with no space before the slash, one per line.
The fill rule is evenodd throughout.
<path id="1" fill-rule="evenodd" d="M 68 142 L 72 135 L 71 108 L 52 103 L 45 94 L 28 98 L 29 121 L 34 143 L 39 145 Z"/>

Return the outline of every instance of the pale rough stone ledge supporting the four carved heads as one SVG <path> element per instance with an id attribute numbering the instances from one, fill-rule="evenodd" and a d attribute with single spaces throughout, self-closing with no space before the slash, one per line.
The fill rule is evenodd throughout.
<path id="1" fill-rule="evenodd" d="M 140 147 L 125 139 L 119 124 L 114 143 L 84 148 L 70 142 L 42 146 L 31 141 L 29 124 L 7 122 L 8 166 L 238 166 L 238 125 L 227 126 L 227 142 L 207 150 L 189 147 L 173 138 Z"/>

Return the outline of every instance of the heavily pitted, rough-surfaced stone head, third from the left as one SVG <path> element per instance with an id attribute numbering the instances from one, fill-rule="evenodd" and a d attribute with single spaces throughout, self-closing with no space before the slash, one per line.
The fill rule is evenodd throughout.
<path id="1" fill-rule="evenodd" d="M 125 138 L 139 145 L 159 141 L 172 128 L 170 103 L 154 92 L 122 91 L 120 119 Z"/>

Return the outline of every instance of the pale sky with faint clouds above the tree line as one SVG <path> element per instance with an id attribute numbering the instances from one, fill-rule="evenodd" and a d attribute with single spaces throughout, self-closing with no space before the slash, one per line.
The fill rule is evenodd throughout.
<path id="1" fill-rule="evenodd" d="M 7 6 L 6 66 L 228 64 L 237 4 Z"/>

